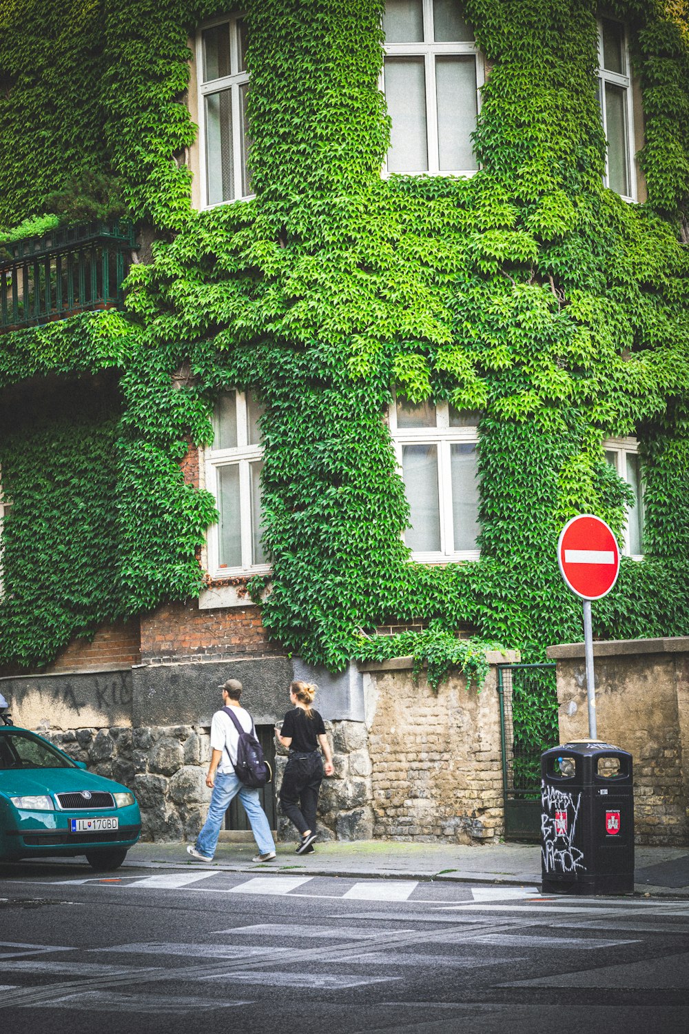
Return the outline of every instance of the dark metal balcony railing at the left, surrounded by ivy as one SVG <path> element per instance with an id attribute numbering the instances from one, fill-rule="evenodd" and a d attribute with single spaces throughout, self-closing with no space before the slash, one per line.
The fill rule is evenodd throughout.
<path id="1" fill-rule="evenodd" d="M 130 222 L 91 222 L 0 245 L 0 332 L 119 306 Z"/>

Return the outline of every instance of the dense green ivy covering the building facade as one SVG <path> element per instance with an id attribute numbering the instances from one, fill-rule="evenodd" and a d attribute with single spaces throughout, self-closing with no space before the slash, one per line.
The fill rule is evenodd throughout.
<path id="1" fill-rule="evenodd" d="M 686 3 L 613 4 L 629 24 L 646 115 L 649 200 L 628 205 L 601 183 L 593 0 L 466 0 L 491 71 L 480 170 L 465 180 L 380 176 L 383 0 L 247 0 L 256 196 L 205 212 L 191 206 L 185 163 L 196 135 L 187 36 L 218 4 L 65 7 L 48 19 L 38 0 L 1 8 L 0 226 L 44 215 L 49 191 L 103 171 L 154 243 L 130 272 L 126 313 L 7 334 L 0 376 L 118 373 L 121 408 L 103 432 L 117 520 L 111 538 L 89 529 L 113 578 L 106 588 L 85 574 L 99 601 L 94 621 L 200 590 L 194 553 L 214 509 L 184 484 L 179 460 L 188 437 L 210 440 L 217 394 L 239 387 L 265 405 L 273 591 L 262 614 L 287 649 L 339 667 L 392 648 L 362 630 L 422 620 L 431 636 L 394 645 L 441 671 L 460 627 L 531 660 L 581 638 L 555 544 L 582 511 L 621 529 L 625 487 L 601 442 L 632 433 L 645 462 L 647 557 L 623 561 L 615 594 L 595 607 L 596 633 L 687 634 Z M 193 377 L 176 389 L 185 361 Z M 412 401 L 483 414 L 477 562 L 408 559 L 408 508 L 383 420 L 394 386 Z M 44 439 L 32 440 L 38 465 Z M 27 507 L 57 506 L 45 486 L 27 491 Z M 30 534 L 48 542 L 15 513 L 8 555 Z M 85 531 L 64 534 L 76 548 Z M 40 621 L 45 595 L 15 570 Z M 12 613 L 0 605 L 0 628 Z M 84 627 L 74 616 L 71 630 Z M 48 624 L 35 648 L 28 624 L 11 628 L 3 660 L 45 662 L 69 620 L 59 635 Z"/>

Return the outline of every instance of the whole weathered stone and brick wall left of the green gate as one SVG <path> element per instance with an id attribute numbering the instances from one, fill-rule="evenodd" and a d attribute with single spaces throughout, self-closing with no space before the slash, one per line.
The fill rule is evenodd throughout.
<path id="1" fill-rule="evenodd" d="M 318 682 L 335 763 L 321 788 L 321 837 L 495 839 L 503 827 L 496 669 L 480 693 L 452 676 L 436 695 L 425 678 L 414 682 L 411 666 L 402 658 L 332 675 L 299 659 L 242 658 L 5 678 L 0 688 L 18 725 L 134 790 L 148 840 L 190 840 L 200 828 L 211 796 L 209 727 L 218 686 L 230 677 L 242 680 L 257 725 L 283 718 L 292 678 Z M 276 761 L 279 790 L 286 756 Z M 294 839 L 284 817 L 278 832 Z"/>

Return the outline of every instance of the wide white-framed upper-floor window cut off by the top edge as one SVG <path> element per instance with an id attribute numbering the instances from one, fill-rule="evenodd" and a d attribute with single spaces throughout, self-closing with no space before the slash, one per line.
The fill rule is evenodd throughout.
<path id="1" fill-rule="evenodd" d="M 471 175 L 483 84 L 458 0 L 387 0 L 381 88 L 393 127 L 387 173 Z"/>

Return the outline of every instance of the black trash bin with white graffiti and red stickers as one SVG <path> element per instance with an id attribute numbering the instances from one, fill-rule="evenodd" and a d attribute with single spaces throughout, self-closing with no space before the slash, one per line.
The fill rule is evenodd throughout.
<path id="1" fill-rule="evenodd" d="M 631 754 L 612 743 L 564 743 L 543 752 L 540 774 L 542 890 L 632 893 Z"/>

